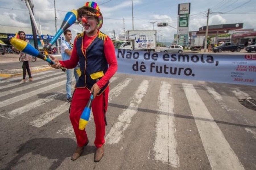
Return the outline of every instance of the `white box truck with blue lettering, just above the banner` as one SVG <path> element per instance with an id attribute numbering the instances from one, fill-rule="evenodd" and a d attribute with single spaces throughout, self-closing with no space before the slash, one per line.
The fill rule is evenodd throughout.
<path id="1" fill-rule="evenodd" d="M 155 51 L 156 30 L 128 30 L 119 49 Z"/>

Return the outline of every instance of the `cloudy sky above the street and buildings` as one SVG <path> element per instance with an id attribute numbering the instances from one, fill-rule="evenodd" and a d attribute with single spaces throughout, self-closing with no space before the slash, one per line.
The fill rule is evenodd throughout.
<path id="1" fill-rule="evenodd" d="M 0 0 L 0 24 L 18 27 L 31 27 L 29 12 L 24 0 Z M 84 5 L 84 0 L 55 0 L 57 29 L 65 14 Z M 207 10 L 210 8 L 209 25 L 243 23 L 243 28 L 256 30 L 256 0 L 133 0 L 133 24 L 131 0 L 98 0 L 103 14 L 101 31 L 112 37 L 123 33 L 124 29 L 159 30 L 160 41 L 171 42 L 177 30 L 172 27 L 157 27 L 158 22 L 168 22 L 177 28 L 178 4 L 191 3 L 189 31 L 198 31 L 207 23 Z M 33 0 L 34 16 L 43 30 L 55 35 L 54 0 Z M 75 35 L 82 31 L 81 25 L 72 25 Z M 114 30 L 114 31 L 113 31 Z M 162 35 L 162 36 L 161 36 Z M 157 39 L 158 39 L 157 37 Z"/>

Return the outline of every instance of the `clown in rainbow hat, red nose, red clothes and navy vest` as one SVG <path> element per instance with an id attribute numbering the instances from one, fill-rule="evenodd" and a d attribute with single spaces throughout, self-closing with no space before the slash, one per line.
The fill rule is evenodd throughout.
<path id="1" fill-rule="evenodd" d="M 86 131 L 79 130 L 78 127 L 80 115 L 93 92 L 92 113 L 96 127 L 94 162 L 99 162 L 104 155 L 109 80 L 117 71 L 117 60 L 110 37 L 99 31 L 103 16 L 97 3 L 86 2 L 77 12 L 77 20 L 84 27 L 84 32 L 75 38 L 69 60 L 59 61 L 51 56 L 55 61 L 52 67 L 71 69 L 79 62 L 82 74 L 75 86 L 69 116 L 77 139 L 77 148 L 71 160 L 77 160 L 89 142 Z"/>

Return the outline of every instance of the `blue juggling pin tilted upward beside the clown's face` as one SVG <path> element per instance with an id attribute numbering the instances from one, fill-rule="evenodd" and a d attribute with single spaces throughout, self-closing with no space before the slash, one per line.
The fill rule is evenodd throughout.
<path id="1" fill-rule="evenodd" d="M 70 27 L 72 24 L 74 24 L 77 20 L 77 10 L 73 9 L 65 15 L 63 22 L 61 24 L 61 27 L 57 31 L 57 33 L 54 35 L 54 37 L 51 39 L 51 41 L 44 46 L 44 49 L 51 49 L 52 44 L 56 42 L 56 40 L 59 38 L 59 36 L 64 32 L 65 29 Z"/>

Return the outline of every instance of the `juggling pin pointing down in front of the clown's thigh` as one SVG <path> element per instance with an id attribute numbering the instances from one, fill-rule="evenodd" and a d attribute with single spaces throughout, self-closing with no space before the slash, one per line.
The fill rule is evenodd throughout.
<path id="1" fill-rule="evenodd" d="M 80 120 L 79 120 L 79 130 L 84 130 L 89 118 L 90 118 L 90 113 L 91 113 L 91 107 L 92 107 L 92 100 L 93 100 L 93 92 L 90 96 L 90 99 L 86 105 L 86 107 L 84 108 L 81 116 L 80 116 Z"/>

